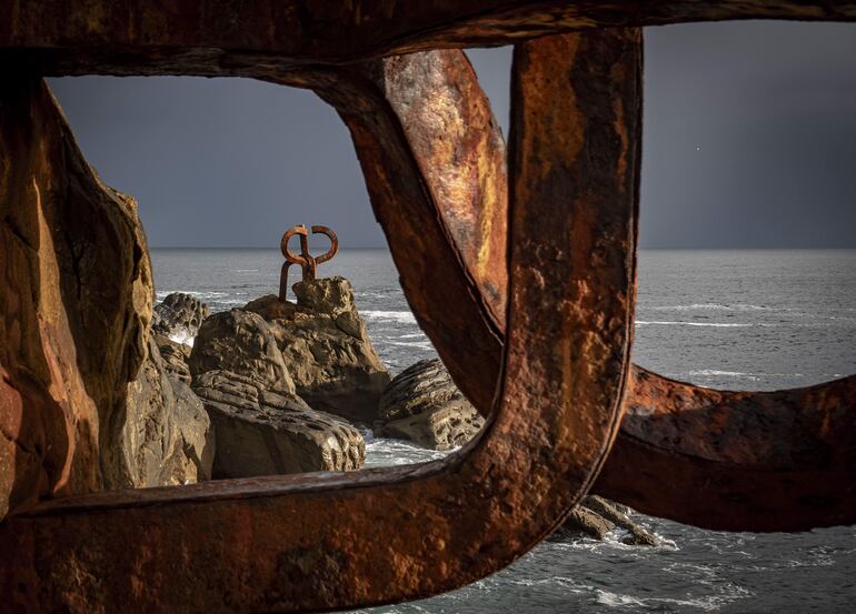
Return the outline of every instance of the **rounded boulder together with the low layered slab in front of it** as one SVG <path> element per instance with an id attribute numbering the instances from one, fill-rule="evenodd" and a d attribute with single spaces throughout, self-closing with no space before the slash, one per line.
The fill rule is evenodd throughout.
<path id="1" fill-rule="evenodd" d="M 362 435 L 295 393 L 272 326 L 259 314 L 232 309 L 206 319 L 189 366 L 216 432 L 215 477 L 362 465 Z"/>

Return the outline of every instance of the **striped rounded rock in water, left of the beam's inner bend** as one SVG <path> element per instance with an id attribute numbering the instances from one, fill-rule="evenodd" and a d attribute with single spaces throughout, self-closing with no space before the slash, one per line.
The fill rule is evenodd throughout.
<path id="1" fill-rule="evenodd" d="M 464 445 L 485 424 L 437 359 L 399 373 L 384 391 L 378 415 L 379 434 L 435 450 Z"/>

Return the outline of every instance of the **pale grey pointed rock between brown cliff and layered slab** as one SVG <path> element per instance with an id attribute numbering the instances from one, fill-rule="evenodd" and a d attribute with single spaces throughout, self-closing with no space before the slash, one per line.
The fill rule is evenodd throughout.
<path id="1" fill-rule="evenodd" d="M 211 477 L 213 431 L 190 387 L 168 376 L 155 340 L 128 389 L 119 427 L 109 433 L 102 455 L 110 487 L 189 484 Z"/>

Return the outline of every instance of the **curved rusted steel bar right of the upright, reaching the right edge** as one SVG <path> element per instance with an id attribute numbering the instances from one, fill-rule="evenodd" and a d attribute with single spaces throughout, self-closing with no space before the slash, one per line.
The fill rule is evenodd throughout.
<path id="1" fill-rule="evenodd" d="M 856 522 L 856 375 L 726 392 L 637 366 L 625 412 L 597 493 L 728 531 Z"/>

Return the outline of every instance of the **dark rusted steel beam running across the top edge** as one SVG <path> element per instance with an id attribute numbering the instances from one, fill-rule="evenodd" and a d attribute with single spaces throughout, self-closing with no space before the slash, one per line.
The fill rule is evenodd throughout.
<path id="1" fill-rule="evenodd" d="M 3 54 L 44 74 L 197 73 L 342 63 L 439 47 L 509 44 L 597 27 L 726 19 L 856 20 L 834 0 L 40 0 L 0 2 Z"/>

